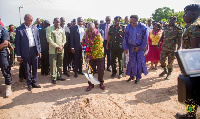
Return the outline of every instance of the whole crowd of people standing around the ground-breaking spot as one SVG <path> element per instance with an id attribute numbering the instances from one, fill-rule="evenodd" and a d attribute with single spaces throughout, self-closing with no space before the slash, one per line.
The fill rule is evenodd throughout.
<path id="1" fill-rule="evenodd" d="M 112 78 L 117 75 L 116 59 L 118 78 L 123 77 L 126 68 L 125 74 L 130 76 L 127 82 L 135 79 L 138 84 L 142 73 L 148 74 L 148 61 L 151 62 L 149 70 L 157 70 L 160 62 L 163 72 L 159 76 L 167 75 L 165 79 L 170 79 L 174 51 L 180 49 L 181 44 L 182 48 L 200 47 L 199 11 L 197 4 L 185 7 L 183 17 L 188 26 L 186 30 L 176 24 L 175 16 L 171 16 L 169 23 L 165 24 L 151 19 L 147 20 L 147 24 L 141 23 L 137 15 L 126 16 L 124 23 L 121 23 L 120 16 L 116 16 L 113 23 L 110 16 L 105 18 L 105 23 L 103 20 L 86 23 L 82 17 L 78 17 L 67 26 L 65 18 L 61 17 L 54 18 L 51 26 L 48 20 L 41 22 L 39 18 L 32 25 L 33 17 L 26 14 L 23 24 L 16 30 L 11 24 L 8 31 L 1 22 L 0 65 L 5 77 L 6 97 L 12 94 L 10 69 L 15 65 L 15 56 L 20 63 L 19 79 L 21 82 L 26 79 L 29 91 L 41 88 L 37 84 L 38 68 L 41 68 L 42 75 L 51 76 L 52 84 L 58 80 L 64 81 L 62 74 L 70 77 L 71 70 L 75 78 L 84 75 L 83 57 L 91 65 L 92 73 L 98 73 L 102 90 L 105 89 L 104 71 L 111 72 Z M 84 52 L 83 46 L 86 47 Z M 90 81 L 88 84 L 86 91 L 94 88 Z"/>

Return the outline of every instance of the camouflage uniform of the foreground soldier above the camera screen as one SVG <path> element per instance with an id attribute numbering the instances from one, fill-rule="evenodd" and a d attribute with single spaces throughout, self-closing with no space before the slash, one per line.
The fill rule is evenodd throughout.
<path id="1" fill-rule="evenodd" d="M 195 20 L 184 32 L 182 37 L 182 48 L 190 49 L 190 48 L 200 48 L 200 42 L 194 41 L 194 39 L 200 39 L 200 18 Z M 195 46 L 191 46 L 191 41 L 195 42 Z"/>

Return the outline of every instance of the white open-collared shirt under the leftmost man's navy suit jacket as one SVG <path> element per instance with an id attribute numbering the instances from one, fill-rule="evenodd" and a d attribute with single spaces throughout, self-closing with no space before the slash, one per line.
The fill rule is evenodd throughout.
<path id="1" fill-rule="evenodd" d="M 35 46 L 35 41 L 34 41 L 34 38 L 33 38 L 32 29 L 31 29 L 32 25 L 30 25 L 29 27 L 25 25 L 25 27 L 26 27 L 26 31 L 27 31 L 27 35 L 28 35 L 27 37 L 28 37 L 28 40 L 29 40 L 29 47 L 33 47 L 33 46 Z"/>

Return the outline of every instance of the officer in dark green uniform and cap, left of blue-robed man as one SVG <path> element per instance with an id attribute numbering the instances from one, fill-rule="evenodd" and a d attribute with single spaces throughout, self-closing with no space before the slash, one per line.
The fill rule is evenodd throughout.
<path id="1" fill-rule="evenodd" d="M 108 42 L 106 48 L 108 48 L 108 44 L 110 43 L 110 51 L 111 51 L 111 66 L 112 66 L 112 75 L 111 77 L 115 77 L 116 70 L 116 58 L 118 58 L 119 64 L 119 78 L 122 78 L 123 73 L 123 61 L 124 61 L 124 50 L 122 48 L 122 42 L 124 38 L 124 26 L 120 25 L 121 17 L 115 17 L 115 24 L 112 25 L 108 32 Z"/>

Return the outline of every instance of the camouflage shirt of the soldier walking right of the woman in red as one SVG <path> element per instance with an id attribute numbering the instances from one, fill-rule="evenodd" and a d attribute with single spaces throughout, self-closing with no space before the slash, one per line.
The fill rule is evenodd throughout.
<path id="1" fill-rule="evenodd" d="M 164 27 L 164 31 L 162 34 L 163 44 L 162 44 L 162 50 L 165 51 L 175 51 L 176 50 L 176 44 L 178 43 L 178 39 L 181 39 L 182 36 L 182 30 L 181 28 L 174 26 L 170 27 L 169 25 Z"/>

